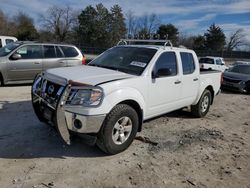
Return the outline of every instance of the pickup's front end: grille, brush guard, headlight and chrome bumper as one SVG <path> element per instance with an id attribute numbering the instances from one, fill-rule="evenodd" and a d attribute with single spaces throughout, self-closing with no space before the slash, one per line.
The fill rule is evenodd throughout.
<path id="1" fill-rule="evenodd" d="M 89 115 L 86 109 L 99 107 L 103 96 L 101 87 L 71 80 L 59 81 L 44 73 L 38 75 L 32 85 L 35 114 L 40 121 L 55 125 L 67 144 L 70 144 L 70 132 L 99 132 L 106 115 Z"/>

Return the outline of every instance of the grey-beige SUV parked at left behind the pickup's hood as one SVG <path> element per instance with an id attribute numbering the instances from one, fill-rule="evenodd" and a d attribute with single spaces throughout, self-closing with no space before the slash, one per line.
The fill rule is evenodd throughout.
<path id="1" fill-rule="evenodd" d="M 86 64 L 73 45 L 15 42 L 0 48 L 0 84 L 29 83 L 43 70 Z"/>

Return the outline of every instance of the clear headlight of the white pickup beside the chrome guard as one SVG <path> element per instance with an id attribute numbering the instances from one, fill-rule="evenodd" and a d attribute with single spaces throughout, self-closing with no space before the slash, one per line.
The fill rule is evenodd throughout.
<path id="1" fill-rule="evenodd" d="M 103 91 L 101 88 L 72 89 L 68 98 L 70 105 L 96 107 L 101 104 Z"/>

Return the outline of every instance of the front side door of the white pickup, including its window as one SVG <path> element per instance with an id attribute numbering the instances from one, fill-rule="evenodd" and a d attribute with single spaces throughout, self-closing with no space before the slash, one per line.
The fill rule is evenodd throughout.
<path id="1" fill-rule="evenodd" d="M 171 70 L 171 75 L 152 78 L 148 87 L 149 117 L 178 108 L 181 96 L 181 77 L 175 52 L 163 52 L 155 63 L 153 72 Z"/>

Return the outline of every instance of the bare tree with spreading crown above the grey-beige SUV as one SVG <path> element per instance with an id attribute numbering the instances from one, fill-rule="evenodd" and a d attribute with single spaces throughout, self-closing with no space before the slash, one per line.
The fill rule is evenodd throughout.
<path id="1" fill-rule="evenodd" d="M 55 35 L 56 41 L 62 42 L 77 21 L 77 16 L 69 6 L 52 6 L 47 10 L 46 16 L 41 17 L 41 21 L 46 30 Z"/>

